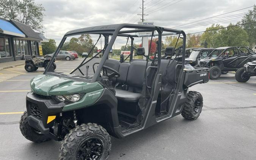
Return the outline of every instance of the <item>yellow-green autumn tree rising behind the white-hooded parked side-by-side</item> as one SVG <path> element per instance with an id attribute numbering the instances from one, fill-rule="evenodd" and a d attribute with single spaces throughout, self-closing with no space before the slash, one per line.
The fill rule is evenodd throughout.
<path id="1" fill-rule="evenodd" d="M 217 30 L 219 28 L 223 28 L 223 26 L 219 24 L 212 24 L 211 27 L 206 28 L 206 32 L 204 32 L 200 38 L 200 43 L 207 43 L 210 48 L 218 47 L 218 39 L 220 36 L 220 31 Z M 212 31 L 213 30 L 213 31 Z"/>

